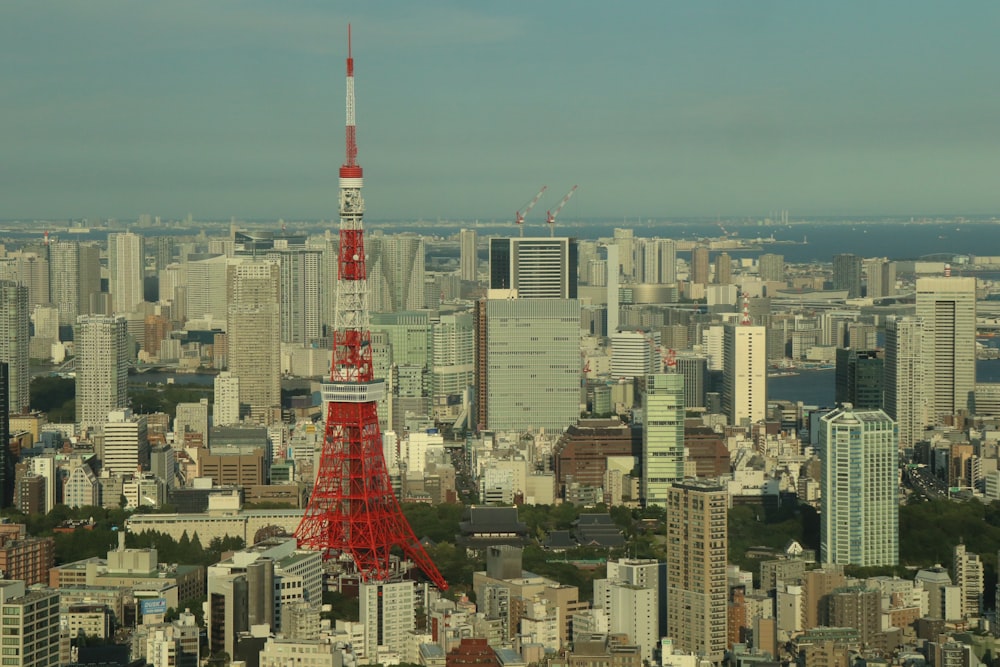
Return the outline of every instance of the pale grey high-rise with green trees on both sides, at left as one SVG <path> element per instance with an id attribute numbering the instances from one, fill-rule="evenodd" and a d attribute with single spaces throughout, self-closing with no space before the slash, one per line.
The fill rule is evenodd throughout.
<path id="1" fill-rule="evenodd" d="M 76 421 L 107 421 L 128 405 L 127 326 L 124 317 L 81 315 L 76 321 Z"/>

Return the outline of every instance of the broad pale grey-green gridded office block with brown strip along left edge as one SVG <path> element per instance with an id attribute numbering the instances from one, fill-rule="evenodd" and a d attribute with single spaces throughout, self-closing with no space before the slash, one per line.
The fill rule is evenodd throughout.
<path id="1" fill-rule="evenodd" d="M 487 299 L 477 306 L 480 427 L 556 432 L 580 416 L 580 303 Z"/>

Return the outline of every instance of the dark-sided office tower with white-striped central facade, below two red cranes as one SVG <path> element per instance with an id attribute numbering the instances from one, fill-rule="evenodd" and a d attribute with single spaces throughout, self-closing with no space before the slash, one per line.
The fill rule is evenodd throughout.
<path id="1" fill-rule="evenodd" d="M 490 239 L 490 289 L 516 290 L 522 299 L 575 299 L 576 267 L 574 239 Z"/>

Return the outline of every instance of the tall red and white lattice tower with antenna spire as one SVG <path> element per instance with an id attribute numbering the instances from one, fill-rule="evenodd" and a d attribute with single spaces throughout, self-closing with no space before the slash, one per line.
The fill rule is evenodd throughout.
<path id="1" fill-rule="evenodd" d="M 340 253 L 333 367 L 323 384 L 326 431 L 316 484 L 295 531 L 299 546 L 326 557 L 350 556 L 362 581 L 388 581 L 397 548 L 440 589 L 448 588 L 392 491 L 382 453 L 377 401 L 385 393 L 372 367 L 368 280 L 354 124 L 354 59 L 347 40 L 347 159 L 340 167 Z"/>

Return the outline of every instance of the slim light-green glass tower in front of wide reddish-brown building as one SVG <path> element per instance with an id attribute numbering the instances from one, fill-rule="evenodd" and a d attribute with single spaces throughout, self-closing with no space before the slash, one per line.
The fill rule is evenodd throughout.
<path id="1" fill-rule="evenodd" d="M 670 485 L 684 479 L 684 376 L 647 375 L 642 411 L 642 496 L 665 506 Z"/>

